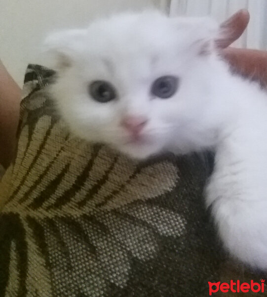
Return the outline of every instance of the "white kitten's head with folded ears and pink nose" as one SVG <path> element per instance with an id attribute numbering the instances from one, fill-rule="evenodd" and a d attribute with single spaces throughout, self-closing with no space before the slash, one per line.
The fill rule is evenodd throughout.
<path id="1" fill-rule="evenodd" d="M 207 18 L 124 13 L 45 43 L 58 109 L 83 139 L 143 158 L 191 149 L 208 104 L 218 25 Z M 200 123 L 196 124 L 197 121 Z"/>

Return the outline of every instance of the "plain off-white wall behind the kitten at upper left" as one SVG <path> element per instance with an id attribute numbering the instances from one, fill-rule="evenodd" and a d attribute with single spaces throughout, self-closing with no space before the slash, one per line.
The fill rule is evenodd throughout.
<path id="1" fill-rule="evenodd" d="M 0 59 L 21 86 L 28 63 L 55 29 L 85 27 L 101 15 L 145 7 L 164 9 L 165 0 L 0 0 Z"/>

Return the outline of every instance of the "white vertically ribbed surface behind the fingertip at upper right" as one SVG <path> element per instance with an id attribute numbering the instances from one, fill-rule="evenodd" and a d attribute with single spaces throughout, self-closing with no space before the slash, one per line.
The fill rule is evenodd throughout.
<path id="1" fill-rule="evenodd" d="M 170 15 L 206 16 L 224 21 L 239 9 L 250 12 L 247 30 L 235 47 L 267 49 L 267 0 L 171 0 Z"/>

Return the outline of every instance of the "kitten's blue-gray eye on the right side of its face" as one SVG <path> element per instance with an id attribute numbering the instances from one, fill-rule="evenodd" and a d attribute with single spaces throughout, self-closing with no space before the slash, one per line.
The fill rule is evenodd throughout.
<path id="1" fill-rule="evenodd" d="M 151 93 L 162 99 L 170 98 L 176 93 L 178 82 L 175 76 L 161 76 L 153 82 Z"/>

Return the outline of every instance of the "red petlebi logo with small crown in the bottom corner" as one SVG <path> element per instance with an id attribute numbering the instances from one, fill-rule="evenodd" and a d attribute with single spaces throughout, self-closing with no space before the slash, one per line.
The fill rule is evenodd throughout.
<path id="1" fill-rule="evenodd" d="M 233 280 L 230 283 L 211 283 L 209 284 L 209 295 L 212 296 L 213 293 L 222 292 L 222 293 L 264 293 L 264 283 L 265 280 L 261 280 L 261 283 L 256 283 L 251 280 L 250 283 L 240 283 L 239 280 L 234 282 Z"/>

